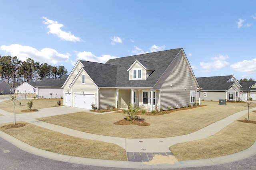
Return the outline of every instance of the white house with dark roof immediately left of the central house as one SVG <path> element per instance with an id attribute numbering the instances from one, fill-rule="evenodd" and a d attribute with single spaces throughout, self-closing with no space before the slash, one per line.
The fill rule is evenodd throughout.
<path id="1" fill-rule="evenodd" d="M 43 78 L 36 82 L 37 98 L 63 98 L 62 85 L 67 78 L 68 75 L 63 75 L 62 78 Z"/>

